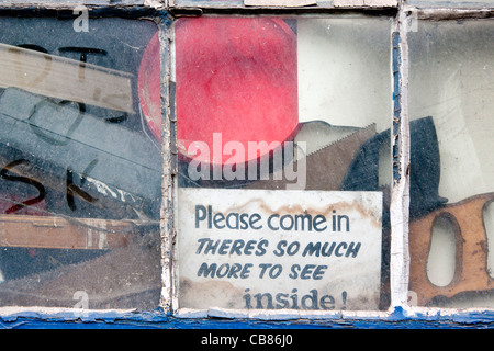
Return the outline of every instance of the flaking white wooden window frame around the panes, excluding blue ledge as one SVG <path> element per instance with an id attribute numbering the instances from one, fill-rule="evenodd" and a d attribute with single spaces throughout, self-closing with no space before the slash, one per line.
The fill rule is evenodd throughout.
<path id="1" fill-rule="evenodd" d="M 246 0 L 247 1 L 247 0 Z M 124 1 L 125 2 L 125 1 Z M 134 3 L 134 1 L 132 1 Z M 160 308 L 165 315 L 171 315 L 177 318 L 250 318 L 261 320 L 296 320 L 296 319 L 317 319 L 317 320 L 360 320 L 360 319 L 379 319 L 389 320 L 396 310 L 403 312 L 405 317 L 412 319 L 428 318 L 436 316 L 461 316 L 483 312 L 492 312 L 492 308 L 428 308 L 417 307 L 413 305 L 413 295 L 408 291 L 408 193 L 409 193 L 409 133 L 408 133 L 408 42 L 407 35 L 416 29 L 416 21 L 437 21 L 437 20 L 461 20 L 476 18 L 493 18 L 494 3 L 492 4 L 462 4 L 458 5 L 411 5 L 404 0 L 335 0 L 334 2 L 300 0 L 293 2 L 291 0 L 248 0 L 245 5 L 236 4 L 233 7 L 218 5 L 217 3 L 207 4 L 201 1 L 190 5 L 181 5 L 179 0 L 144 0 L 143 5 L 154 12 L 154 18 L 158 23 L 159 38 L 161 43 L 161 104 L 162 104 L 162 206 L 160 216 L 161 230 L 161 264 L 162 264 L 162 292 Z M 295 3 L 295 4 L 294 4 Z M 100 10 L 101 5 L 86 4 L 91 10 Z M 35 8 L 45 9 L 47 12 L 57 10 L 71 11 L 75 4 L 64 4 L 59 1 L 44 2 L 35 4 Z M 22 10 L 30 8 L 30 2 L 9 3 L 0 2 L 0 10 Z M 104 8 L 104 5 L 103 5 Z M 117 7 L 106 7 L 109 11 L 121 11 Z M 125 11 L 132 12 L 131 9 Z M 335 312 L 303 312 L 303 310 L 233 310 L 211 308 L 207 310 L 193 310 L 187 308 L 178 308 L 178 295 L 176 290 L 176 272 L 173 259 L 175 251 L 175 214 L 180 203 L 177 201 L 177 180 L 176 163 L 177 156 L 175 133 L 172 129 L 177 121 L 170 113 L 170 63 L 173 57 L 170 53 L 170 43 L 173 41 L 172 25 L 169 21 L 173 21 L 180 16 L 195 15 L 243 15 L 243 14 L 345 14 L 349 12 L 361 11 L 383 11 L 386 15 L 394 18 L 392 32 L 397 35 L 398 41 L 394 48 L 394 54 L 398 55 L 394 63 L 394 79 L 398 84 L 398 91 L 395 92 L 393 114 L 395 123 L 395 135 L 393 137 L 394 162 L 397 166 L 393 177 L 393 190 L 391 202 L 391 252 L 390 252 L 390 283 L 391 283 L 391 304 L 388 310 L 335 310 Z M 391 14 L 390 14 L 391 13 Z M 393 43 L 390 43 L 390 46 Z M 396 81 L 397 79 L 397 81 Z M 411 304 L 412 301 L 412 304 Z M 96 318 L 122 318 L 132 314 L 133 310 L 88 310 L 83 315 L 80 309 L 66 308 L 46 308 L 46 307 L 0 307 L 0 316 L 3 320 L 23 317 L 63 317 L 63 318 L 82 318 L 94 320 Z M 487 317 L 489 318 L 489 317 Z"/>

